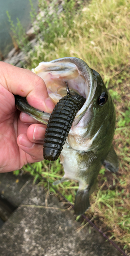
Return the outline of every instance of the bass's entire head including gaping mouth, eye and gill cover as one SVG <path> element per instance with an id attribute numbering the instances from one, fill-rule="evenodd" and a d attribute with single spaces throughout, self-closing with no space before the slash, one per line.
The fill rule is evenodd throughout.
<path id="1" fill-rule="evenodd" d="M 85 61 L 74 57 L 41 62 L 32 71 L 44 80 L 55 104 L 67 95 L 65 82 L 71 94 L 86 98 L 74 118 L 66 145 L 81 152 L 107 154 L 115 130 L 115 109 L 100 75 Z"/>

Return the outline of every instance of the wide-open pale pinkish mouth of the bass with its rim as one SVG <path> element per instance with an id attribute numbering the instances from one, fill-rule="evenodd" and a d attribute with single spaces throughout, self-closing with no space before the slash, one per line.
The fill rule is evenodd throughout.
<path id="1" fill-rule="evenodd" d="M 71 94 L 80 94 L 86 101 L 79 112 L 77 112 L 73 125 L 75 126 L 93 99 L 96 90 L 96 81 L 89 66 L 80 58 L 65 57 L 49 62 L 41 62 L 32 71 L 40 76 L 45 84 L 49 97 L 55 104 L 67 95 L 66 83 Z"/>

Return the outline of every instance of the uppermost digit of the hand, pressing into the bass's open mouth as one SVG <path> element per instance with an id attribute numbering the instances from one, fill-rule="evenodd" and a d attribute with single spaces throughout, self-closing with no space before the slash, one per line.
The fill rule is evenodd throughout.
<path id="1" fill-rule="evenodd" d="M 44 81 L 32 71 L 0 61 L 0 83 L 12 94 L 27 97 L 34 108 L 44 112 L 54 109 Z"/>

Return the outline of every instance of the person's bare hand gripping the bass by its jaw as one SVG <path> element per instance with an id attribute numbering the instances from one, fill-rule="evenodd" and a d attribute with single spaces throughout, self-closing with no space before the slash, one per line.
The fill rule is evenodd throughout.
<path id="1" fill-rule="evenodd" d="M 27 97 L 30 105 L 44 112 L 54 109 L 39 76 L 0 61 L 0 173 L 43 160 L 46 126 L 20 113 L 13 94 Z"/>

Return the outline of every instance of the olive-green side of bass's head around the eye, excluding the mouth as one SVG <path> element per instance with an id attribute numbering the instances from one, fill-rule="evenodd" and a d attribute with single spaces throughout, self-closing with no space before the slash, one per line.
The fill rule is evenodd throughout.
<path id="1" fill-rule="evenodd" d="M 99 73 L 95 70 L 92 73 L 95 92 L 81 123 L 86 127 L 84 138 L 88 139 L 89 150 L 103 159 L 111 148 L 115 132 L 115 107 Z"/>

